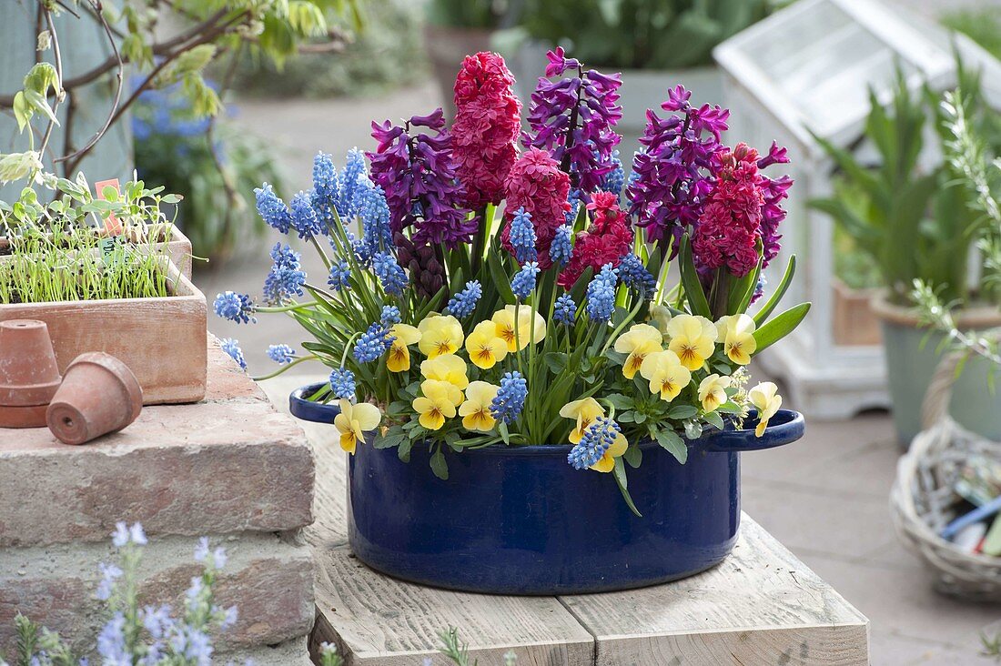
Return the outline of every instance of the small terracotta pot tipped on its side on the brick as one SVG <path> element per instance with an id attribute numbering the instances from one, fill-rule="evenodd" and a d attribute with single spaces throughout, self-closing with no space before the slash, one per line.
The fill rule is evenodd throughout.
<path id="1" fill-rule="evenodd" d="M 46 421 L 64 444 L 84 444 L 119 431 L 142 411 L 142 389 L 135 375 L 110 354 L 82 354 L 66 369 Z"/>

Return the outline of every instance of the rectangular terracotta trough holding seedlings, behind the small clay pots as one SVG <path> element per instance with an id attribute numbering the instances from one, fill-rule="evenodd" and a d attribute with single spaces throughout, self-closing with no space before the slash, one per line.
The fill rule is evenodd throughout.
<path id="1" fill-rule="evenodd" d="M 167 264 L 172 295 L 0 304 L 0 321 L 40 319 L 49 326 L 59 371 L 85 352 L 106 352 L 127 365 L 144 405 L 195 403 L 205 397 L 205 296 Z"/>

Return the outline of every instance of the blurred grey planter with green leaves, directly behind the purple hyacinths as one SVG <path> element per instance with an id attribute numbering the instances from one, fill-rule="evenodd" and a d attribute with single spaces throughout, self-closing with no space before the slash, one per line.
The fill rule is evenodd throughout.
<path id="1" fill-rule="evenodd" d="M 544 74 L 547 49 L 564 46 L 581 60 L 623 72 L 619 131 L 635 144 L 648 108 L 679 83 L 704 102 L 723 97 L 713 48 L 772 11 L 771 0 L 526 0 L 525 40 L 516 74 L 526 88 Z M 518 41 L 508 37 L 505 41 Z"/>

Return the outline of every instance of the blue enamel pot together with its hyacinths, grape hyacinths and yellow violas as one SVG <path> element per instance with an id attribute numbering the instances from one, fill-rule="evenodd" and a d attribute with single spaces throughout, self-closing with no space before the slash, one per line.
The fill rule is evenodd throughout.
<path id="1" fill-rule="evenodd" d="M 810 306 L 776 313 L 791 261 L 747 313 L 779 250 L 792 183 L 764 170 L 785 151 L 724 145 L 728 112 L 678 86 L 622 198 L 608 189 L 619 75 L 563 49 L 548 61 L 524 152 L 513 77 L 484 52 L 462 63 L 450 130 L 441 109 L 374 122 L 368 164 L 318 154 L 312 190 L 287 205 L 257 189 L 264 220 L 328 273 L 309 278 L 279 242 L 264 303 L 215 300 L 309 335 L 268 350 L 274 374 L 331 369 L 292 413 L 332 424 L 351 454 L 355 555 L 404 579 L 556 594 L 697 573 L 734 545 L 740 453 L 803 433 L 747 368 Z"/>

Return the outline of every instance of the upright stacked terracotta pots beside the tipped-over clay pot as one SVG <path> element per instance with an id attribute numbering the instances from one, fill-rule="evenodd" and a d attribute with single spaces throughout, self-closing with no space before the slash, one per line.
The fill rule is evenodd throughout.
<path id="1" fill-rule="evenodd" d="M 45 406 L 61 380 L 44 321 L 0 321 L 0 427 L 44 426 Z"/>

